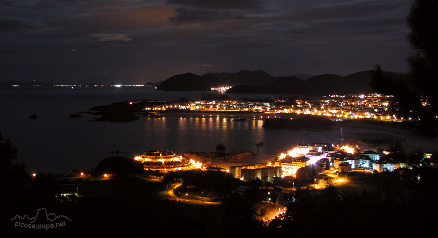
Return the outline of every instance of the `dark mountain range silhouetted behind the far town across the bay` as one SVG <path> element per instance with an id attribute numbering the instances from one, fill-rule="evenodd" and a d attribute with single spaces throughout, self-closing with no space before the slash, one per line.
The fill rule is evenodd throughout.
<path id="1" fill-rule="evenodd" d="M 405 74 L 395 74 L 408 79 Z M 336 74 L 273 77 L 262 70 L 241 70 L 237 73 L 206 73 L 202 76 L 186 73 L 170 77 L 158 90 L 208 91 L 213 86 L 230 85 L 228 93 L 281 93 L 303 95 L 373 93 L 370 88 L 371 71 L 362 71 L 347 76 Z"/>

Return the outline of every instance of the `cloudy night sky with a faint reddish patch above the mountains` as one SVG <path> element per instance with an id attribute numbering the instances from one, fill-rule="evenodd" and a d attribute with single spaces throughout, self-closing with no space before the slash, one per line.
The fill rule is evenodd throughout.
<path id="1" fill-rule="evenodd" d="M 264 70 L 408 72 L 413 0 L 0 0 L 0 75 L 146 83 Z"/>

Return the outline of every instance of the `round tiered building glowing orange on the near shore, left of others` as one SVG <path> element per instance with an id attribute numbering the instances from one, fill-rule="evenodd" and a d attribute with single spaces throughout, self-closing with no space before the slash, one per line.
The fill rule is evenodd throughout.
<path id="1" fill-rule="evenodd" d="M 134 160 L 142 162 L 143 168 L 151 171 L 169 172 L 202 168 L 200 162 L 187 160 L 169 150 L 148 151 Z"/>

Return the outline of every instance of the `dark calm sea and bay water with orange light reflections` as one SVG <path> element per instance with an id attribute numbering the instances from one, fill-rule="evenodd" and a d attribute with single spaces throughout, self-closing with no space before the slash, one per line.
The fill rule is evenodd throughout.
<path id="1" fill-rule="evenodd" d="M 96 166 L 110 156 L 133 157 L 154 149 L 177 154 L 188 150 L 215 151 L 223 143 L 231 150 L 256 151 L 240 162 L 256 163 L 277 156 L 301 142 L 339 143 L 352 133 L 375 133 L 372 129 L 335 128 L 331 131 L 264 129 L 263 120 L 233 121 L 215 114 L 203 117 L 142 118 L 128 123 L 89 122 L 68 116 L 96 105 L 133 99 L 200 99 L 211 92 L 162 92 L 147 89 L 1 89 L 0 130 L 18 149 L 18 161 L 28 171 L 69 172 Z M 233 95 L 255 98 L 269 95 Z M 37 113 L 38 119 L 28 119 Z M 212 115 L 212 116 L 210 116 Z M 263 142 L 257 148 L 256 144 Z M 111 153 L 119 150 L 122 153 Z"/>

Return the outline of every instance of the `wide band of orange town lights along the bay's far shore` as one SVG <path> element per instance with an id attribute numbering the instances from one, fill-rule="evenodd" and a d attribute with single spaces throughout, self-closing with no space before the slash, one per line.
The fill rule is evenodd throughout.
<path id="1" fill-rule="evenodd" d="M 221 90 L 221 87 L 215 88 Z M 146 111 L 165 111 L 167 109 L 183 109 L 189 111 L 248 111 L 265 114 L 292 113 L 298 115 L 315 115 L 345 119 L 374 119 L 382 121 L 412 121 L 420 120 L 411 115 L 397 115 L 388 106 L 391 95 L 330 95 L 329 98 L 297 99 L 291 104 L 281 104 L 285 100 L 274 102 L 263 101 L 231 101 L 231 100 L 201 100 L 195 102 L 168 102 L 145 107 Z M 422 98 L 420 98 L 423 100 Z M 279 104 L 278 104 L 279 103 Z M 427 103 L 422 103 L 427 106 Z M 411 111 L 412 112 L 412 111 Z M 268 117 L 269 118 L 269 117 Z M 437 116 L 438 118 L 438 116 Z"/>

